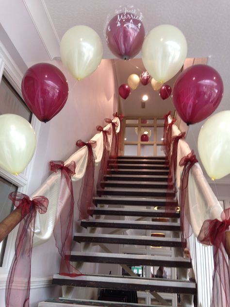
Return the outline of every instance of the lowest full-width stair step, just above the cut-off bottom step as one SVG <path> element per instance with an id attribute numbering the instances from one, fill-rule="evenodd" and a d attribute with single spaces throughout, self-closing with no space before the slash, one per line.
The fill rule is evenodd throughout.
<path id="1" fill-rule="evenodd" d="M 55 274 L 53 275 L 52 284 L 116 290 L 196 293 L 196 283 L 190 281 L 99 274 L 84 274 L 77 277 Z"/>

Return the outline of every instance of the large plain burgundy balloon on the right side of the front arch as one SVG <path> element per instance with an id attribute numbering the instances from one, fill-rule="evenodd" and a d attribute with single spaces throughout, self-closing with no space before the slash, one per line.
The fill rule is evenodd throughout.
<path id="1" fill-rule="evenodd" d="M 223 96 L 224 85 L 219 73 L 207 65 L 186 68 L 173 86 L 173 103 L 187 125 L 210 116 Z"/>

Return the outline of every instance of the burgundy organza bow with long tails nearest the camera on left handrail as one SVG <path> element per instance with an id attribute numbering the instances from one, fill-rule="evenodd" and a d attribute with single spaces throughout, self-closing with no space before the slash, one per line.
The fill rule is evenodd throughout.
<path id="1" fill-rule="evenodd" d="M 46 213 L 49 200 L 45 196 L 36 196 L 30 200 L 28 195 L 12 192 L 9 199 L 17 208 L 21 208 L 22 216 L 15 242 L 15 256 L 6 281 L 6 307 L 29 307 L 31 285 L 31 256 L 33 235 L 37 211 Z"/>

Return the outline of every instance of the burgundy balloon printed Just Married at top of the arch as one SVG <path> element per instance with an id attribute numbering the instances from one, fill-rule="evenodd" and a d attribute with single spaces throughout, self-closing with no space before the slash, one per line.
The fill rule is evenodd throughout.
<path id="1" fill-rule="evenodd" d="M 140 17 L 121 13 L 115 15 L 106 29 L 109 49 L 123 60 L 129 60 L 137 55 L 145 38 L 145 29 Z"/>

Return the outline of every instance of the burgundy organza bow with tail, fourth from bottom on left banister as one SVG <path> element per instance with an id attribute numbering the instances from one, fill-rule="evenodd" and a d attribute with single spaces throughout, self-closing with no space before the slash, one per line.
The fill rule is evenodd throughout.
<path id="1" fill-rule="evenodd" d="M 103 180 L 103 176 L 107 170 L 110 149 L 108 135 L 111 135 L 111 130 L 111 127 L 109 128 L 109 130 L 104 130 L 101 126 L 97 126 L 97 131 L 100 131 L 103 134 L 103 153 L 100 161 L 97 188 L 100 187 L 100 183 Z"/>

